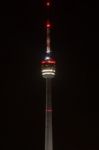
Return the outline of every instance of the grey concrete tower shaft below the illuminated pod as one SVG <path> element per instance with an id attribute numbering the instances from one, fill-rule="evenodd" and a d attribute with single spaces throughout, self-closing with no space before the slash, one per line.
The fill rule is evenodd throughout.
<path id="1" fill-rule="evenodd" d="M 46 109 L 45 109 L 45 150 L 53 150 L 52 144 L 52 102 L 51 79 L 46 78 Z"/>

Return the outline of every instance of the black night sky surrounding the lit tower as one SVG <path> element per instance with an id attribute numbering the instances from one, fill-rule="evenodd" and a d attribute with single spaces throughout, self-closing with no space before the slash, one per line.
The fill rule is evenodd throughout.
<path id="1" fill-rule="evenodd" d="M 54 150 L 99 150 L 99 3 L 53 1 Z M 0 149 L 44 150 L 44 0 L 1 7 Z"/>

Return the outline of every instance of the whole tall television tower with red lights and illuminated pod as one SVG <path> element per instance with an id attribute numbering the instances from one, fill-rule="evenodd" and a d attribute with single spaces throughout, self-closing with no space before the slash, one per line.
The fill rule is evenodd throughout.
<path id="1" fill-rule="evenodd" d="M 51 2 L 46 0 L 47 13 L 50 11 Z M 45 106 L 45 150 L 53 150 L 52 136 L 52 102 L 51 102 L 51 80 L 55 77 L 55 59 L 51 56 L 51 23 L 49 17 L 46 21 L 46 51 L 41 61 L 42 77 L 46 81 L 46 106 Z"/>

